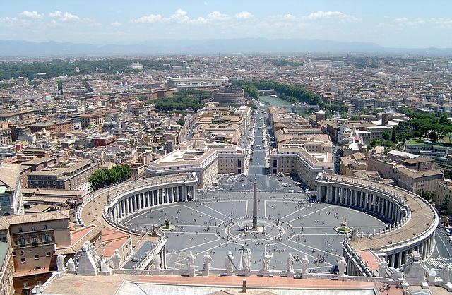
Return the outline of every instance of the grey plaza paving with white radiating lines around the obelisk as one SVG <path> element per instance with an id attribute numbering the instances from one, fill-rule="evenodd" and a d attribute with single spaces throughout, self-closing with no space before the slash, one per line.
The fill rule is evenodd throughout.
<path id="1" fill-rule="evenodd" d="M 196 270 L 203 268 L 206 252 L 213 258 L 212 269 L 222 270 L 231 251 L 239 269 L 242 249 L 249 248 L 253 270 L 262 270 L 261 258 L 268 251 L 273 255 L 270 270 L 286 270 L 287 256 L 292 253 L 295 271 L 307 255 L 310 272 L 329 272 L 337 264 L 343 235 L 333 228 L 343 220 L 364 232 L 384 227 L 381 220 L 364 212 L 309 203 L 304 193 L 258 191 L 258 226 L 265 226 L 265 232 L 246 231 L 251 226 L 252 195 L 251 191 L 201 193 L 196 202 L 156 207 L 129 223 L 145 228 L 169 218 L 177 226 L 167 234 L 168 268 L 186 269 L 185 258 L 191 251 L 197 255 Z"/>

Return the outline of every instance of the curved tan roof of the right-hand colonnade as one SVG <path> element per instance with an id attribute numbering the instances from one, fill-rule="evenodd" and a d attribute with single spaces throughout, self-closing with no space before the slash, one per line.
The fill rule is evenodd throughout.
<path id="1" fill-rule="evenodd" d="M 395 231 L 391 231 L 386 234 L 382 234 L 381 236 L 374 236 L 368 239 L 359 239 L 355 241 L 350 241 L 350 245 L 353 246 L 357 251 L 362 250 L 373 250 L 378 251 L 383 247 L 391 247 L 391 245 L 397 243 L 403 243 L 410 239 L 413 239 L 417 236 L 420 236 L 425 231 L 428 231 L 432 227 L 436 228 L 437 220 L 436 213 L 432 210 L 430 205 L 421 200 L 415 193 L 410 193 L 396 186 L 390 186 L 388 184 L 377 183 L 375 181 L 367 181 L 364 179 L 357 179 L 355 177 L 349 176 L 338 176 L 335 174 L 327 174 L 328 180 L 348 185 L 357 186 L 357 189 L 361 191 L 365 191 L 366 188 L 376 189 L 379 191 L 384 190 L 384 193 L 389 194 L 389 192 L 393 192 L 393 194 L 399 195 L 403 200 L 403 197 L 406 196 L 406 204 L 410 205 L 411 208 L 411 219 L 399 229 Z M 321 181 L 321 179 L 320 179 Z M 389 192 L 388 192 L 389 191 Z M 435 222 L 436 220 L 436 222 Z M 424 238 L 427 238 L 425 236 Z M 408 246 L 408 245 L 407 245 Z"/>

